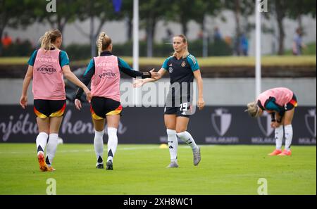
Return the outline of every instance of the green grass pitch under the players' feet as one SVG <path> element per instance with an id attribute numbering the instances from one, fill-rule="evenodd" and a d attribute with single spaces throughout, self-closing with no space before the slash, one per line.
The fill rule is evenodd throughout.
<path id="1" fill-rule="evenodd" d="M 201 146 L 201 163 L 180 145 L 180 167 L 168 169 L 168 148 L 118 144 L 113 170 L 97 170 L 93 144 L 58 145 L 55 172 L 40 172 L 35 144 L 0 144 L 0 194 L 268 194 L 316 195 L 316 146 L 293 146 L 292 156 L 269 157 L 274 146 Z M 106 145 L 104 150 L 106 151 Z"/>

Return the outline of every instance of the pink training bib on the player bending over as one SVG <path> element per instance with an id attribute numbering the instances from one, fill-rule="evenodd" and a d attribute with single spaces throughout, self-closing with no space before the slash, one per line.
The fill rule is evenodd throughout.
<path id="1" fill-rule="evenodd" d="M 267 91 L 263 91 L 258 96 L 258 100 L 261 101 L 261 104 L 263 107 L 264 107 L 264 104 L 266 103 L 266 100 L 268 100 L 270 96 L 275 98 L 275 103 L 283 107 L 292 100 L 293 91 L 283 87 L 268 89 Z"/>

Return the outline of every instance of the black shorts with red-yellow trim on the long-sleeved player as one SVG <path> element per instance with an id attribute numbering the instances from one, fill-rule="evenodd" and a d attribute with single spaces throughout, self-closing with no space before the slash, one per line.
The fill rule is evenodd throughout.
<path id="1" fill-rule="evenodd" d="M 106 115 L 122 115 L 122 109 L 119 101 L 100 96 L 93 96 L 90 103 L 90 112 L 95 120 L 102 120 Z"/>

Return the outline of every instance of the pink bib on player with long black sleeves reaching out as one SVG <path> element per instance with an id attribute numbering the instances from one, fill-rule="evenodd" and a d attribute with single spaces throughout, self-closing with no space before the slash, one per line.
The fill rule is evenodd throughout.
<path id="1" fill-rule="evenodd" d="M 101 96 L 120 102 L 120 71 L 116 56 L 98 56 L 94 58 L 94 76 L 92 77 L 92 96 Z"/>

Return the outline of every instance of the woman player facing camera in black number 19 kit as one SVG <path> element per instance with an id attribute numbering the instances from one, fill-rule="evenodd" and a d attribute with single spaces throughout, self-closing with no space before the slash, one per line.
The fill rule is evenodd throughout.
<path id="1" fill-rule="evenodd" d="M 204 108 L 203 82 L 197 59 L 192 56 L 187 49 L 187 39 L 183 34 L 173 37 L 173 56 L 166 58 L 161 70 L 156 72 L 159 79 L 166 72 L 170 74 L 170 89 L 166 99 L 164 110 L 164 122 L 168 135 L 168 147 L 170 151 L 170 164 L 168 167 L 178 167 L 178 139 L 192 147 L 194 165 L 198 165 L 201 160 L 200 148 L 195 143 L 193 137 L 187 132 L 189 115 L 192 115 L 193 106 L 193 82 L 197 80 L 199 110 Z M 147 78 L 137 80 L 134 87 L 141 87 L 147 82 L 155 82 L 159 79 Z"/>

